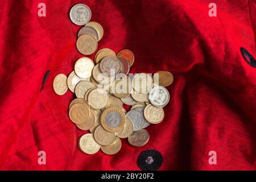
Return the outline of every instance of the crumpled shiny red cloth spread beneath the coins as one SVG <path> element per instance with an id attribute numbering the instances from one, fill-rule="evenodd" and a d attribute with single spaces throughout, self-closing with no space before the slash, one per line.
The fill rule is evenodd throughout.
<path id="1" fill-rule="evenodd" d="M 147 149 L 163 155 L 160 170 L 256 168 L 256 69 L 240 52 L 256 57 L 255 1 L 215 0 L 217 17 L 209 17 L 212 1 L 205 0 L 45 0 L 46 17 L 38 16 L 40 2 L 0 2 L 0 169 L 138 170 Z M 122 139 L 113 156 L 79 150 L 86 132 L 68 118 L 74 95 L 52 88 L 55 76 L 68 75 L 83 57 L 76 49 L 81 26 L 69 19 L 76 3 L 88 5 L 104 28 L 98 49 L 134 52 L 131 73 L 174 74 L 164 121 L 147 128 L 146 146 Z M 38 164 L 41 150 L 46 165 Z M 217 165 L 208 163 L 212 150 Z"/>

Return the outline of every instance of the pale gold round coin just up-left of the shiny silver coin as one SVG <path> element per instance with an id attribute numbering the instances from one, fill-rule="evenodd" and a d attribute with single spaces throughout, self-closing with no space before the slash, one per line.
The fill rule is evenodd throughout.
<path id="1" fill-rule="evenodd" d="M 153 80 L 146 73 L 138 73 L 133 77 L 133 89 L 138 93 L 147 93 L 152 88 Z"/>

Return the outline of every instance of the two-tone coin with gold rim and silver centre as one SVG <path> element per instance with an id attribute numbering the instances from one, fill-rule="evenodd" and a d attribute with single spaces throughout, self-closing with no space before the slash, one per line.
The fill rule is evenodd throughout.
<path id="1" fill-rule="evenodd" d="M 109 107 L 104 110 L 101 115 L 101 125 L 105 130 L 110 132 L 118 132 L 125 126 L 126 117 L 122 109 L 117 107 Z"/>

